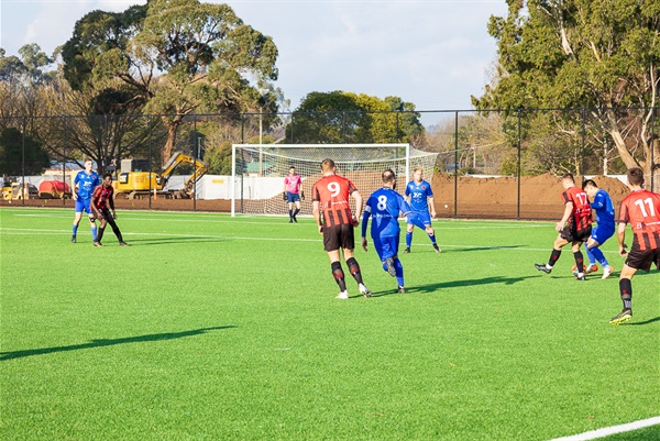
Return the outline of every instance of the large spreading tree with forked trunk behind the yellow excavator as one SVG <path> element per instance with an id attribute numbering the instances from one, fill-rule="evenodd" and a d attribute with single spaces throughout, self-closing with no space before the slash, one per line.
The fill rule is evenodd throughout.
<path id="1" fill-rule="evenodd" d="M 161 115 L 168 133 L 162 163 L 187 114 L 239 114 L 262 97 L 260 86 L 277 79 L 272 38 L 229 5 L 198 0 L 150 0 L 121 14 L 95 11 L 76 23 L 63 57 L 74 87 L 119 78 L 145 100 L 144 112 Z"/>

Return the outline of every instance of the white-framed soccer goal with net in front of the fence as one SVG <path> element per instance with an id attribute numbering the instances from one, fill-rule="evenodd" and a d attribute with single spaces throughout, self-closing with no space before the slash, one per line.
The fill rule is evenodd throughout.
<path id="1" fill-rule="evenodd" d="M 322 177 L 321 161 L 331 158 L 339 175 L 355 184 L 366 198 L 382 187 L 381 174 L 392 168 L 403 192 L 416 167 L 425 169 L 429 183 L 437 153 L 421 152 L 409 144 L 233 144 L 231 216 L 286 214 L 284 177 L 289 167 L 302 178 L 301 214 L 311 213 L 311 187 Z"/>

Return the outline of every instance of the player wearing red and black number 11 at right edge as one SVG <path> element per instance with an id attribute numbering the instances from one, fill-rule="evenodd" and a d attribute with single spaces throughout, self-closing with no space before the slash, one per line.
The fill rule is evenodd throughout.
<path id="1" fill-rule="evenodd" d="M 619 293 L 624 309 L 609 320 L 612 324 L 620 324 L 632 318 L 631 279 L 638 269 L 649 272 L 651 264 L 660 269 L 660 195 L 645 190 L 644 172 L 630 168 L 627 174 L 630 195 L 619 208 L 617 239 L 619 254 L 626 257 L 619 278 Z M 626 224 L 632 229 L 632 247 L 626 253 Z M 656 293 L 658 294 L 658 293 Z"/>

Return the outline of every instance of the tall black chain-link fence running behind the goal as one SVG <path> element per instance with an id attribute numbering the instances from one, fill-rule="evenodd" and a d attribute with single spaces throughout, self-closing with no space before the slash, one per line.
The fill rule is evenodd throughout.
<path id="1" fill-rule="evenodd" d="M 660 191 L 659 117 L 585 108 L 0 118 L 2 203 L 73 207 L 72 179 L 90 157 L 117 179 L 120 207 L 229 211 L 232 144 L 403 142 L 438 155 L 440 217 L 554 219 L 565 173 L 579 184 L 594 177 L 618 203 L 637 165 Z"/>

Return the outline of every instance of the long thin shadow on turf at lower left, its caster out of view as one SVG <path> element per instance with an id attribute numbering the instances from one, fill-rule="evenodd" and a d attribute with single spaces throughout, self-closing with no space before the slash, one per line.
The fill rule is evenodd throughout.
<path id="1" fill-rule="evenodd" d="M 91 340 L 88 343 L 70 344 L 67 346 L 53 346 L 53 348 L 31 349 L 31 350 L 24 350 L 24 351 L 0 352 L 0 361 L 3 362 L 3 361 L 8 361 L 8 360 L 22 359 L 22 357 L 32 356 L 32 355 L 45 355 L 45 354 L 52 354 L 55 352 L 67 352 L 67 351 L 78 351 L 78 350 L 82 350 L 82 349 L 113 346 L 116 344 L 144 343 L 144 342 L 155 342 L 155 341 L 162 341 L 162 340 L 183 339 L 185 337 L 201 335 L 209 331 L 218 331 L 221 329 L 231 329 L 231 328 L 237 328 L 237 327 L 233 324 L 230 324 L 227 327 L 200 328 L 200 329 L 194 329 L 190 331 L 165 332 L 165 333 L 160 333 L 160 334 L 125 337 L 122 339 L 98 339 L 98 340 Z"/>

